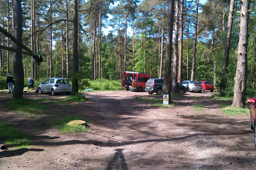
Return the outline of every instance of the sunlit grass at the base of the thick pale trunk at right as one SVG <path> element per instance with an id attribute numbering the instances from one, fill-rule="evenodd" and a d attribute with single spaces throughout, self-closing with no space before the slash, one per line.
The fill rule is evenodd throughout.
<path id="1" fill-rule="evenodd" d="M 222 112 L 224 112 L 226 115 L 229 116 L 235 116 L 235 115 L 243 115 L 249 113 L 249 108 L 241 108 L 241 107 L 230 107 L 230 105 L 224 105 L 220 104 Z"/>

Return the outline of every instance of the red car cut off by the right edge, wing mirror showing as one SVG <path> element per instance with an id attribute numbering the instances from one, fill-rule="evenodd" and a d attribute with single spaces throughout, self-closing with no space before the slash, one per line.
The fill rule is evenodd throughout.
<path id="1" fill-rule="evenodd" d="M 256 96 L 255 96 L 256 97 Z M 255 119 L 255 113 L 256 113 L 256 99 L 255 98 L 249 98 L 247 100 L 248 103 L 250 103 L 250 128 L 254 130 L 254 145 L 256 147 L 256 119 Z"/>

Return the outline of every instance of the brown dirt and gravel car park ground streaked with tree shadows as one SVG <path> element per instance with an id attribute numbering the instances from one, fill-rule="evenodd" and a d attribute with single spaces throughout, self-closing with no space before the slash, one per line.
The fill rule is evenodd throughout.
<path id="1" fill-rule="evenodd" d="M 156 108 L 140 98 L 161 98 L 148 92 L 86 92 L 84 103 L 49 103 L 51 112 L 22 116 L 5 104 L 11 93 L 0 94 L 0 120 L 32 137 L 34 147 L 0 150 L 1 170 L 253 170 L 256 150 L 250 115 L 227 116 L 212 92 L 190 92 L 172 108 Z M 195 97 L 196 96 L 196 97 Z M 50 93 L 24 93 L 24 98 L 54 99 Z M 204 105 L 193 111 L 193 105 Z M 47 121 L 81 115 L 90 124 L 85 133 L 64 134 Z"/>

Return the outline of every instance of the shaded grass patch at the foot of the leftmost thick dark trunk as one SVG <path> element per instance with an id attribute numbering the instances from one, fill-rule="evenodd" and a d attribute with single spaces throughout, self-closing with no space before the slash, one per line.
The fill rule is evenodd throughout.
<path id="1" fill-rule="evenodd" d="M 49 108 L 47 104 L 31 99 L 15 99 L 6 104 L 8 109 L 17 110 L 22 114 L 43 114 Z"/>

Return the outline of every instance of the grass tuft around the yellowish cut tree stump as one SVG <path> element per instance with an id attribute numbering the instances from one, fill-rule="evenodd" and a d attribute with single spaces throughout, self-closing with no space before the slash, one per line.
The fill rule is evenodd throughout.
<path id="1" fill-rule="evenodd" d="M 68 117 L 63 117 L 55 122 L 50 122 L 50 124 L 52 127 L 60 128 L 59 130 L 64 133 L 86 132 L 89 130 L 86 128 L 86 126 L 80 125 L 80 124 L 68 125 L 68 122 L 73 120 L 85 121 L 82 116 L 68 116 Z M 92 124 L 92 122 L 86 122 L 86 123 Z"/>

